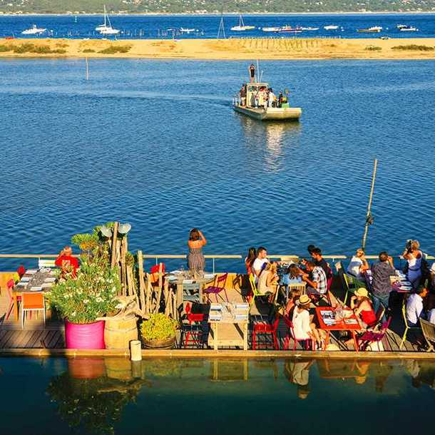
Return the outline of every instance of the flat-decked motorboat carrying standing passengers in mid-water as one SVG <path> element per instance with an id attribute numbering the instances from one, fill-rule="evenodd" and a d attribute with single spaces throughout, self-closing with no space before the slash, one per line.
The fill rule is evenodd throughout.
<path id="1" fill-rule="evenodd" d="M 240 100 L 235 98 L 232 108 L 243 115 L 250 116 L 257 121 L 297 121 L 302 115 L 302 108 L 290 107 L 288 103 L 282 107 L 256 108 L 255 97 L 261 88 L 269 88 L 269 83 L 247 83 L 246 85 L 246 105 L 242 106 Z"/>

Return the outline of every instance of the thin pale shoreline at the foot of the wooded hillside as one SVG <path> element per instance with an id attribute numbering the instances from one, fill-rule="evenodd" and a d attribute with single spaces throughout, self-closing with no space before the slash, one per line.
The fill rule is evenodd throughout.
<path id="1" fill-rule="evenodd" d="M 119 13 L 119 12 L 108 12 L 110 15 L 115 16 L 220 16 L 220 14 L 216 14 L 213 12 L 207 13 L 207 14 L 196 14 L 194 12 L 126 12 L 126 13 Z M 358 11 L 350 11 L 350 12 L 344 12 L 344 11 L 337 11 L 337 12 L 241 12 L 243 16 L 289 16 L 289 15 L 307 15 L 307 16 L 342 16 L 342 15 L 434 15 L 435 11 L 406 11 L 406 12 L 400 12 L 400 11 L 365 11 L 365 12 L 358 12 Z M 2 16 L 98 16 L 103 15 L 102 12 L 86 12 L 85 14 L 82 14 L 81 12 L 78 12 L 78 14 L 75 14 L 73 12 L 50 12 L 50 13 L 39 13 L 39 12 L 22 12 L 20 14 L 11 13 L 11 12 L 4 12 L 1 13 L 0 11 L 0 18 Z M 224 16 L 238 16 L 239 14 L 236 12 L 225 12 Z"/>

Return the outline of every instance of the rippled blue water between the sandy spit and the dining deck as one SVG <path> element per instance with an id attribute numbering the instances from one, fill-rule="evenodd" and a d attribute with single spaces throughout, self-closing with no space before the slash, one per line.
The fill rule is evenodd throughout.
<path id="1" fill-rule="evenodd" d="M 434 61 L 262 62 L 300 123 L 232 111 L 247 64 L 98 59 L 86 82 L 81 59 L 1 60 L 0 252 L 121 220 L 152 254 L 185 252 L 194 226 L 213 254 L 351 253 L 377 157 L 367 251 L 434 253 Z"/>

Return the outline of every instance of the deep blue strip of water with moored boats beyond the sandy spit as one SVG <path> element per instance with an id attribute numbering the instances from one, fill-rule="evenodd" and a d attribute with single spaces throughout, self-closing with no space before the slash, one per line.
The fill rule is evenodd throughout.
<path id="1" fill-rule="evenodd" d="M 319 31 L 305 31 L 298 36 L 319 37 L 332 36 L 341 38 L 367 38 L 390 36 L 394 38 L 421 37 L 433 38 L 435 36 L 435 14 L 357 14 L 357 15 L 246 15 L 245 24 L 255 26 L 252 31 L 231 31 L 232 26 L 238 24 L 238 16 L 225 16 L 224 26 L 227 37 L 252 37 L 252 36 L 277 36 L 267 34 L 260 30 L 270 26 L 303 26 L 319 27 Z M 45 36 L 56 38 L 101 38 L 95 31 L 96 26 L 103 22 L 103 16 L 77 16 L 77 21 L 72 15 L 65 16 L 0 16 L 0 36 L 20 36 L 21 32 L 29 29 L 32 24 L 47 29 Z M 196 29 L 192 34 L 184 34 L 182 38 L 215 38 L 218 34 L 220 16 L 143 16 L 122 15 L 111 16 L 113 27 L 121 30 L 118 38 L 172 38 L 172 32 L 165 36 L 167 29 Z M 339 26 L 338 30 L 327 31 L 324 26 Z M 414 26 L 417 32 L 401 32 L 396 29 L 397 24 Z M 384 27 L 380 34 L 357 34 L 357 29 L 366 29 L 372 26 Z M 280 34 L 279 36 L 294 37 L 294 34 Z M 32 38 L 34 36 L 24 36 Z"/>

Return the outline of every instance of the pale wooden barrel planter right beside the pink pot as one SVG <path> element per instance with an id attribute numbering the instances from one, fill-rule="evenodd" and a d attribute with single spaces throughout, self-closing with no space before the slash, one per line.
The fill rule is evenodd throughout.
<path id="1" fill-rule="evenodd" d="M 127 317 L 107 317 L 104 341 L 106 349 L 128 349 L 131 340 L 138 339 L 138 322 L 134 314 Z"/>

